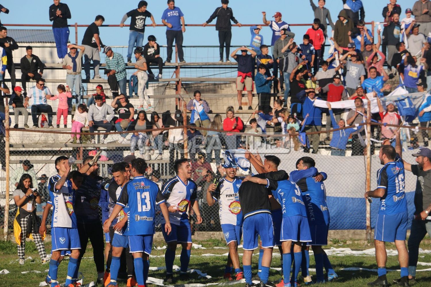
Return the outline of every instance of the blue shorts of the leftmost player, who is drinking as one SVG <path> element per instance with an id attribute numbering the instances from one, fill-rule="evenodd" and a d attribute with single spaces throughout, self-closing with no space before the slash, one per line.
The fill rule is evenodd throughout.
<path id="1" fill-rule="evenodd" d="M 81 249 L 78 228 L 51 228 L 52 251 Z"/>

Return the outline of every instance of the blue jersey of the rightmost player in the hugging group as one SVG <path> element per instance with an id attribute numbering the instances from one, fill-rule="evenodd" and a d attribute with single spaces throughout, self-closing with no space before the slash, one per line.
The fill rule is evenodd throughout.
<path id="1" fill-rule="evenodd" d="M 325 184 L 313 178 L 318 173 L 315 167 L 306 170 L 294 170 L 290 173 L 290 180 L 295 182 L 302 192 L 310 225 L 329 224 L 330 222 Z M 326 180 L 326 173 L 321 174 L 323 180 Z"/>

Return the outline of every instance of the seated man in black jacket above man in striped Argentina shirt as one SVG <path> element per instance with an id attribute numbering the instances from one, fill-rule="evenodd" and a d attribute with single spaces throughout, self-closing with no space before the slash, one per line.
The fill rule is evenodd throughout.
<path id="1" fill-rule="evenodd" d="M 24 89 L 24 96 L 27 95 L 27 81 L 39 80 L 42 78 L 44 73 L 45 65 L 42 63 L 41 59 L 36 55 L 33 55 L 33 48 L 31 46 L 25 47 L 25 52 L 27 55 L 21 58 L 21 84 L 22 89 Z"/>

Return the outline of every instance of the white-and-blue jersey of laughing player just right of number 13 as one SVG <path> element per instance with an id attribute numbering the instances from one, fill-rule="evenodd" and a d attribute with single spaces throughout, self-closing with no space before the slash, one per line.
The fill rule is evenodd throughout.
<path id="1" fill-rule="evenodd" d="M 163 185 L 162 194 L 168 208 L 170 206 L 177 208 L 177 212 L 169 213 L 171 224 L 180 225 L 181 222 L 188 223 L 187 210 L 189 204 L 193 204 L 197 199 L 196 183 L 191 179 L 187 183 L 184 183 L 178 176 L 175 176 Z M 161 218 L 161 222 L 166 223 L 164 217 Z"/>

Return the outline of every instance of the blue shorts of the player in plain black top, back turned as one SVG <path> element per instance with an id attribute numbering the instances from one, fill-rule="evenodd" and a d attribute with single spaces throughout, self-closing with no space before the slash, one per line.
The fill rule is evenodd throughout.
<path id="1" fill-rule="evenodd" d="M 257 213 L 244 219 L 243 249 L 256 249 L 259 246 L 258 235 L 260 235 L 263 248 L 274 247 L 274 227 L 270 213 Z"/>

